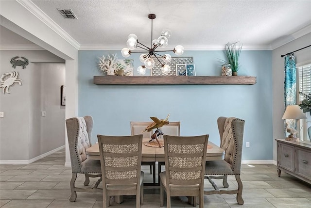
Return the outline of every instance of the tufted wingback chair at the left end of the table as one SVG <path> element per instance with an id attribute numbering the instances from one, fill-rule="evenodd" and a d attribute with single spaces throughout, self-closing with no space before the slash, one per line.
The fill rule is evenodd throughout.
<path id="1" fill-rule="evenodd" d="M 102 191 L 97 186 L 101 182 L 101 178 L 91 188 L 77 188 L 74 183 L 77 174 L 84 174 L 86 180 L 84 185 L 89 184 L 89 177 L 101 177 L 100 160 L 86 159 L 86 149 L 90 147 L 91 134 L 93 128 L 93 118 L 91 116 L 73 117 L 66 120 L 67 136 L 70 152 L 72 178 L 70 180 L 71 196 L 70 202 L 74 202 L 77 198 L 76 192 L 94 192 Z"/>

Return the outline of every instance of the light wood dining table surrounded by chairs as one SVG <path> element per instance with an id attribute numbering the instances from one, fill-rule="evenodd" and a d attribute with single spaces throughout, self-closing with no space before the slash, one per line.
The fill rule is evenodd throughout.
<path id="1" fill-rule="evenodd" d="M 164 147 L 153 147 L 148 146 L 150 138 L 142 139 L 141 147 L 141 161 L 156 161 L 164 162 Z M 86 149 L 86 158 L 90 160 L 100 160 L 99 145 L 98 143 L 93 144 Z M 217 146 L 216 144 L 208 141 L 207 144 L 207 154 L 206 161 L 210 160 L 224 160 L 225 159 L 225 150 Z M 144 184 L 145 185 L 145 184 Z M 150 185 L 150 184 L 148 184 Z M 123 201 L 122 196 L 116 196 L 115 202 L 120 204 Z"/>

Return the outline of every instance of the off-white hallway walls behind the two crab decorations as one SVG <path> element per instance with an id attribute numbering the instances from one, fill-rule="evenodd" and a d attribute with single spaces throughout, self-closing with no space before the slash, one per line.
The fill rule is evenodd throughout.
<path id="1" fill-rule="evenodd" d="M 10 60 L 15 56 L 26 57 L 29 65 L 12 68 Z M 65 64 L 35 64 L 33 60 L 64 62 L 46 50 L 0 50 L 0 75 L 17 71 L 23 80 L 22 85 L 9 88 L 10 94 L 0 92 L 0 111 L 4 112 L 0 118 L 2 162 L 31 160 L 65 144 L 65 107 L 60 106 Z M 41 116 L 43 110 L 46 117 Z"/>

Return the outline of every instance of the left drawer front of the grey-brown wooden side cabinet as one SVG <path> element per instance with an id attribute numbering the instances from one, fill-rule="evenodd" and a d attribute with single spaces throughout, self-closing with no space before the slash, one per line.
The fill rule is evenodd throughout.
<path id="1" fill-rule="evenodd" d="M 294 146 L 279 143 L 279 166 L 294 173 Z"/>

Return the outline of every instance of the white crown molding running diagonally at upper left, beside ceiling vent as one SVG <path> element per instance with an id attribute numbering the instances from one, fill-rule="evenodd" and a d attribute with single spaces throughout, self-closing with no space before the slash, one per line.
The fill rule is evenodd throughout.
<path id="1" fill-rule="evenodd" d="M 73 39 L 66 31 L 64 31 L 56 22 L 47 16 L 39 7 L 37 7 L 31 0 L 16 0 L 20 5 L 25 7 L 30 13 L 40 19 L 44 24 L 51 28 L 54 32 L 64 38 L 74 48 L 79 49 L 80 44 Z"/>

